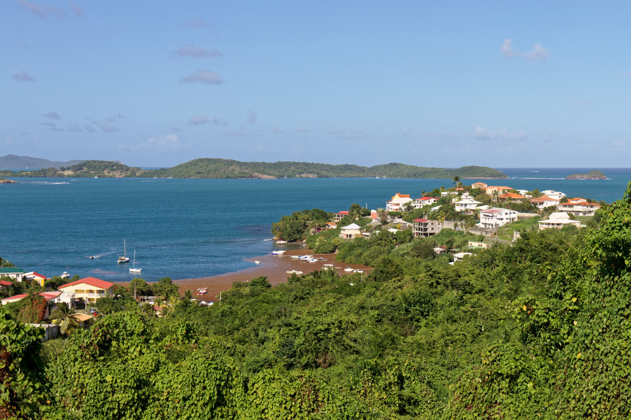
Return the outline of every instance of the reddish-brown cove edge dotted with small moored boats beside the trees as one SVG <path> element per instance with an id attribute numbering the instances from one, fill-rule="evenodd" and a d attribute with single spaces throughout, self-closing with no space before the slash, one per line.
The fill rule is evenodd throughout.
<path id="1" fill-rule="evenodd" d="M 305 254 L 310 254 L 314 257 L 321 257 L 326 259 L 326 261 L 306 262 L 289 257 L 290 255 Z M 174 283 L 177 283 L 180 286 L 180 295 L 184 295 L 187 290 L 190 290 L 192 295 L 199 300 L 215 301 L 219 300 L 220 291 L 230 290 L 232 288 L 233 281 L 249 281 L 259 276 L 268 276 L 269 283 L 271 283 L 272 286 L 275 286 L 279 283 L 286 283 L 287 277 L 291 276 L 291 274 L 287 274 L 287 271 L 296 270 L 307 274 L 314 270 L 322 269 L 324 264 L 333 264 L 333 267 L 338 270 L 339 276 L 343 274 L 352 274 L 344 271 L 344 269 L 348 266 L 356 270 L 363 269 L 365 273 L 370 272 L 372 269 L 372 267 L 367 265 L 338 262 L 335 260 L 335 254 L 310 253 L 306 248 L 287 250 L 283 255 L 268 254 L 264 257 L 246 258 L 244 261 L 251 262 L 252 267 L 241 271 L 220 274 L 219 276 L 174 280 Z M 261 264 L 254 264 L 254 261 L 261 261 Z M 203 296 L 196 296 L 198 289 L 204 287 L 208 288 L 208 293 Z"/>

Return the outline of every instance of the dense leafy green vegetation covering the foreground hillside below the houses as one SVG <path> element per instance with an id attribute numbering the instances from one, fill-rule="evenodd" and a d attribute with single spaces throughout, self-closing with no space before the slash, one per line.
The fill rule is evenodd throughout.
<path id="1" fill-rule="evenodd" d="M 354 204 L 338 225 L 366 226 L 365 213 Z M 233 283 L 208 307 L 190 291 L 180 297 L 168 278 L 152 286 L 134 279 L 97 300 L 91 327 L 59 304 L 52 319 L 62 336 L 47 341 L 24 324 L 42 319 L 41 288 L 13 282 L 1 293 L 27 297 L 0 308 L 0 412 L 60 420 L 628 417 L 631 183 L 585 227 L 522 222 L 513 243 L 475 248 L 453 265 L 436 245 L 463 250 L 481 238 L 382 228 L 340 240 L 339 228 L 322 230 L 330 216 L 296 212 L 272 229 L 314 250 L 334 243 L 338 261 L 369 263 L 369 274 L 322 269 L 275 287 L 257 277 Z M 139 305 L 134 291 L 160 298 Z"/>

